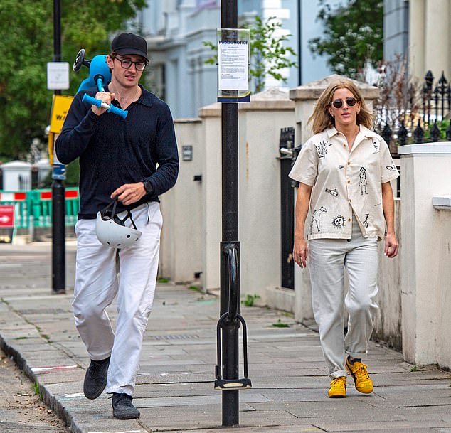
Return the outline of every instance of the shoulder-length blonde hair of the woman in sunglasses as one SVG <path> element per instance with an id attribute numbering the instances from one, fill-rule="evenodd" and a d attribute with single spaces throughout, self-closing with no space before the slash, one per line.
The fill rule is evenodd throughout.
<path id="1" fill-rule="evenodd" d="M 361 103 L 360 111 L 357 114 L 356 122 L 358 125 L 364 125 L 368 129 L 373 126 L 373 114 L 365 105 L 364 97 L 357 86 L 351 80 L 335 80 L 331 82 L 321 96 L 318 98 L 317 105 L 315 105 L 312 116 L 309 117 L 308 123 L 312 122 L 312 131 L 314 134 L 323 132 L 324 129 L 335 126 L 335 119 L 329 113 L 329 107 L 332 103 L 334 93 L 338 89 L 348 89 Z"/>

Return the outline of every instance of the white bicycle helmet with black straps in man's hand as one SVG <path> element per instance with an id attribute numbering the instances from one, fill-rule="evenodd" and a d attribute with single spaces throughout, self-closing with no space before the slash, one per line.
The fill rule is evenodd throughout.
<path id="1" fill-rule="evenodd" d="M 142 232 L 137 229 L 137 226 L 132 220 L 132 213 L 127 210 L 125 218 L 119 218 L 116 212 L 117 199 L 112 201 L 106 208 L 97 213 L 95 220 L 95 234 L 97 239 L 106 247 L 123 248 L 133 245 Z M 110 207 L 112 206 L 112 209 Z M 125 221 L 129 219 L 133 227 L 127 227 Z"/>

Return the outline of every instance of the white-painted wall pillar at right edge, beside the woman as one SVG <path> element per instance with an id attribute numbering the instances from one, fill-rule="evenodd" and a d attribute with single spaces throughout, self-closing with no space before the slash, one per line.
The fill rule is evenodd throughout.
<path id="1" fill-rule="evenodd" d="M 412 364 L 451 365 L 451 143 L 400 146 L 403 355 Z M 448 277 L 447 277 L 448 275 Z"/>

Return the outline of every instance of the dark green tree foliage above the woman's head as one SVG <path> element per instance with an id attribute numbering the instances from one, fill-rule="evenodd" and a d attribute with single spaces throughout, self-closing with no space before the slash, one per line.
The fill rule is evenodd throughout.
<path id="1" fill-rule="evenodd" d="M 317 20 L 324 36 L 309 40 L 313 54 L 328 55 L 328 65 L 340 75 L 358 77 L 365 60 L 376 66 L 383 58 L 383 1 L 348 0 L 346 6 L 332 9 L 319 0 Z"/>

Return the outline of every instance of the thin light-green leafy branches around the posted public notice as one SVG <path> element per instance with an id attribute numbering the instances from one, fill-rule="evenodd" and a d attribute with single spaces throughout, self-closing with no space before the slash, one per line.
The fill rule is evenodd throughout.
<path id="1" fill-rule="evenodd" d="M 255 16 L 255 23 L 245 25 L 250 31 L 250 69 L 249 75 L 255 79 L 255 92 L 260 92 L 265 87 L 265 76 L 270 75 L 275 80 L 287 82 L 287 79 L 280 73 L 282 69 L 297 67 L 295 61 L 290 60 L 289 55 L 296 55 L 295 50 L 286 46 L 286 42 L 292 36 L 280 34 L 282 24 L 276 21 L 275 16 L 270 16 L 263 21 L 260 16 Z M 216 44 L 204 41 L 203 45 L 217 51 Z M 208 58 L 205 63 L 215 65 L 218 55 Z"/>

